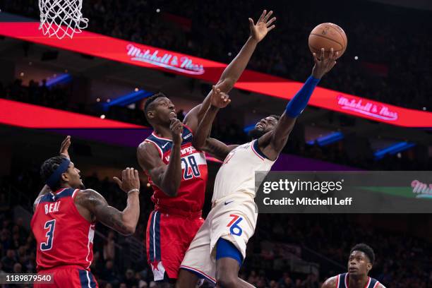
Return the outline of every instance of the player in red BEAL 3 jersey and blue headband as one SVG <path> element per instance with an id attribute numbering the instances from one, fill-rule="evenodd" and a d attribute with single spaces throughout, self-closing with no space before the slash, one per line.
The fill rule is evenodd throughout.
<path id="1" fill-rule="evenodd" d="M 37 242 L 37 272 L 51 274 L 54 284 L 35 287 L 97 287 L 90 272 L 96 222 L 129 235 L 140 215 L 138 171 L 127 168 L 114 181 L 128 194 L 126 208 L 109 206 L 100 193 L 85 189 L 78 170 L 68 155 L 70 136 L 61 144 L 61 155 L 42 164 L 42 188 L 33 206 L 30 226 Z"/>

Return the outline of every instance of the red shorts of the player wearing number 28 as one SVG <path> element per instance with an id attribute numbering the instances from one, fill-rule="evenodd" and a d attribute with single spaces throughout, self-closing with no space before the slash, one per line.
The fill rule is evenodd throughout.
<path id="1" fill-rule="evenodd" d="M 203 223 L 200 212 L 187 217 L 160 210 L 150 213 L 145 246 L 155 281 L 177 278 L 184 254 Z"/>

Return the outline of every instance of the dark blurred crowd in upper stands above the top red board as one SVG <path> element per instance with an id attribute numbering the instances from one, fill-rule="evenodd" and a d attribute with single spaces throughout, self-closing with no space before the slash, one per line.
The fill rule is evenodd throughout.
<path id="1" fill-rule="evenodd" d="M 0 3 L 4 11 L 39 18 L 32 1 Z M 313 64 L 309 32 L 319 23 L 337 23 L 347 33 L 348 49 L 320 85 L 431 111 L 430 11 L 360 0 L 336 0 L 331 6 L 316 0 L 266 6 L 257 1 L 86 0 L 83 16 L 90 19 L 90 31 L 228 63 L 248 37 L 247 18 L 258 19 L 263 8 L 275 11 L 277 28 L 259 45 L 249 68 L 304 81 Z"/>

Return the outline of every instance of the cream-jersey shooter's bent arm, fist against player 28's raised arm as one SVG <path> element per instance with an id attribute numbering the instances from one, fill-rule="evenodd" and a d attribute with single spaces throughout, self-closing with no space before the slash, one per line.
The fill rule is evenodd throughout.
<path id="1" fill-rule="evenodd" d="M 212 130 L 212 123 L 215 120 L 216 114 L 220 108 L 227 107 L 231 102 L 229 96 L 225 93 L 220 92 L 220 89 L 215 86 L 212 87 L 210 97 L 210 107 L 200 121 L 200 125 L 196 130 L 195 136 L 193 136 L 192 145 L 198 150 L 203 150 L 214 155 L 219 160 L 224 160 L 228 153 L 237 147 L 237 145 L 226 145 L 220 140 L 208 137 Z"/>

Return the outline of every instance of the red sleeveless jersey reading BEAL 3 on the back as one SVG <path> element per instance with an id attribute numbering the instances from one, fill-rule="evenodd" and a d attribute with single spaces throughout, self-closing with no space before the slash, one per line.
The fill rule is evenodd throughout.
<path id="1" fill-rule="evenodd" d="M 30 222 L 37 242 L 37 270 L 78 265 L 90 270 L 95 223 L 80 215 L 74 196 L 78 189 L 61 188 L 37 203 Z"/>

